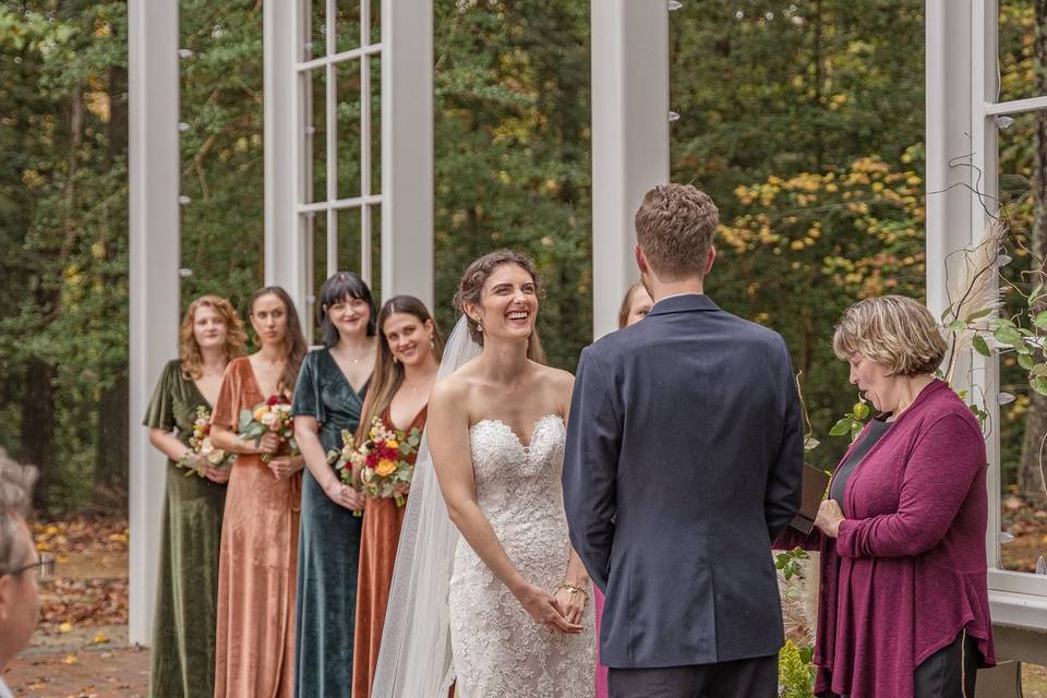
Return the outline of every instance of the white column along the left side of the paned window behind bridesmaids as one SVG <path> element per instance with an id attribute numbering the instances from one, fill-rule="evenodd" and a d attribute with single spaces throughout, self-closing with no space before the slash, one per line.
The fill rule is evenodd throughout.
<path id="1" fill-rule="evenodd" d="M 300 0 L 265 0 L 263 9 L 263 84 L 265 121 L 265 284 L 282 286 L 306 327 L 312 240 L 305 239 L 297 205 L 304 202 L 311 167 L 301 164 L 302 105 L 311 85 L 299 77 L 303 11 Z M 309 3 L 304 3 L 308 5 Z"/>

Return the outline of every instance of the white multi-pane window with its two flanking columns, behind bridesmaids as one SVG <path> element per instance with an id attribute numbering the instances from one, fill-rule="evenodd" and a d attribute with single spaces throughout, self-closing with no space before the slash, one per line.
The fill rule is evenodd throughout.
<path id="1" fill-rule="evenodd" d="M 327 31 L 323 56 L 305 58 L 313 0 L 266 0 L 266 284 L 282 286 L 301 315 L 315 314 L 313 220 L 326 221 L 327 275 L 338 270 L 338 212 L 360 210 L 361 266 L 368 284 L 380 273 L 382 297 L 409 293 L 433 308 L 433 7 L 432 0 L 382 0 L 381 41 L 371 40 L 371 3 L 360 2 L 360 45 L 336 53 Z M 332 26 L 335 0 L 315 0 Z M 308 34 L 309 33 L 309 34 Z M 370 62 L 381 57 L 381 85 Z M 357 196 L 338 197 L 336 67 L 360 67 L 360 178 Z M 326 191 L 313 198 L 311 72 L 325 71 Z M 381 193 L 371 169 L 371 97 L 382 100 Z M 381 269 L 372 268 L 373 206 L 381 206 Z M 303 323 L 310 332 L 312 323 Z"/>

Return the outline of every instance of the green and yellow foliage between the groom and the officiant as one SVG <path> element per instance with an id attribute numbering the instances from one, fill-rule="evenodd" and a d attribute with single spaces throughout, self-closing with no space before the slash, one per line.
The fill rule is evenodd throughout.
<path id="1" fill-rule="evenodd" d="M 713 196 L 726 233 L 708 292 L 785 337 L 825 466 L 855 397 L 833 324 L 864 294 L 923 296 L 923 11 L 711 0 L 670 25 L 672 178 Z"/>

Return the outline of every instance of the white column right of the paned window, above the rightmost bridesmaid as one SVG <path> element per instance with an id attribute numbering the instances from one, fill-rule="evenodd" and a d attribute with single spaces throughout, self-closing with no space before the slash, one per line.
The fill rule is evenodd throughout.
<path id="1" fill-rule="evenodd" d="M 381 280 L 433 308 L 432 0 L 382 0 Z"/>

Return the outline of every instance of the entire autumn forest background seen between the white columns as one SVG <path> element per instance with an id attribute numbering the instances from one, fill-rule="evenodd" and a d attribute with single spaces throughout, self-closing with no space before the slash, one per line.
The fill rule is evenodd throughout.
<path id="1" fill-rule="evenodd" d="M 339 22 L 354 21 L 356 3 L 339 0 Z M 702 0 L 670 15 L 671 108 L 682 115 L 672 179 L 721 210 L 708 292 L 784 335 L 823 467 L 844 446 L 829 428 L 856 399 L 832 356 L 834 322 L 864 297 L 924 296 L 923 7 Z M 193 51 L 181 63 L 181 193 L 192 200 L 182 303 L 220 293 L 243 311 L 263 268 L 262 3 L 181 8 Z M 550 360 L 573 370 L 592 321 L 589 3 L 448 0 L 434 11 L 438 322 L 454 322 L 465 265 L 514 246 L 541 269 Z M 1000 22 L 1001 97 L 1047 94 L 1047 0 L 1001 0 Z M 124 510 L 134 467 L 127 89 L 125 2 L 0 3 L 0 446 L 41 468 L 37 504 L 51 512 Z M 358 152 L 359 110 L 359 99 L 338 105 L 342 152 Z M 1015 281 L 1042 265 L 1045 134 L 1033 115 L 1001 136 Z M 347 156 L 344 177 L 354 167 Z M 1043 434 L 1047 405 L 1020 371 L 1014 385 L 1008 375 L 1018 399 L 1001 419 L 1004 472 L 1031 492 L 1039 476 L 1025 426 Z"/>

